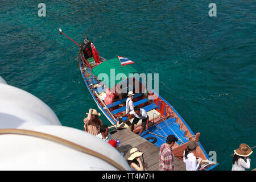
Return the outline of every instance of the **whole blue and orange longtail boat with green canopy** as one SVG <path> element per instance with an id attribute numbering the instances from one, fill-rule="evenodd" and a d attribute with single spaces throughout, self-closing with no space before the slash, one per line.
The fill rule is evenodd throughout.
<path id="1" fill-rule="evenodd" d="M 123 117 L 122 121 L 120 115 L 125 113 L 125 103 L 127 100 L 127 94 L 125 98 L 115 100 L 111 104 L 106 105 L 102 100 L 102 94 L 105 94 L 106 89 L 112 88 L 112 85 L 117 85 L 120 82 L 112 77 L 111 69 L 114 69 L 115 75 L 121 73 L 126 76 L 125 80 L 132 80 L 133 84 L 129 85 L 127 81 L 127 90 L 135 93 L 133 102 L 134 106 L 140 106 L 142 109 L 147 111 L 149 117 L 148 129 L 144 130 L 141 137 L 154 143 L 160 147 L 161 144 L 166 142 L 168 135 L 173 134 L 178 139 L 175 145 L 172 147 L 174 155 L 183 160 L 183 152 L 187 148 L 187 144 L 190 140 L 196 140 L 199 146 L 196 148 L 195 156 L 202 158 L 200 170 L 208 171 L 218 165 L 217 162 L 212 162 L 204 150 L 202 144 L 199 141 L 200 133 L 194 134 L 188 124 L 180 116 L 174 107 L 169 104 L 164 98 L 159 96 L 154 90 L 150 90 L 144 85 L 144 82 L 137 80 L 136 77 L 129 77 L 133 75 L 131 73 L 137 73 L 137 70 L 131 67 L 131 65 L 121 66 L 118 57 L 114 59 L 106 60 L 104 57 L 98 56 L 96 48 L 93 43 L 90 43 L 91 47 L 84 50 L 85 47 L 81 46 L 77 56 L 77 63 L 79 65 L 82 78 L 87 86 L 93 100 L 96 102 L 98 108 L 102 111 L 105 117 L 112 125 L 117 125 L 120 122 L 124 122 L 129 125 L 131 119 Z M 85 51 L 89 52 L 89 55 L 85 55 Z M 105 74 L 110 79 L 102 78 L 102 74 Z M 102 86 L 102 82 L 104 83 Z M 134 86 L 135 85 L 135 86 Z M 137 87 L 136 87 L 137 85 Z M 146 90 L 146 93 L 144 92 Z M 141 129 L 141 122 L 138 122 L 134 127 L 134 133 L 138 133 Z"/>

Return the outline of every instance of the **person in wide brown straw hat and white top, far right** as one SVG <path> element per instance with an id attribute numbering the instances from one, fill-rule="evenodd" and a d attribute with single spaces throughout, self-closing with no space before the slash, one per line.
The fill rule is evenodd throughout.
<path id="1" fill-rule="evenodd" d="M 245 169 L 250 169 L 249 156 L 251 153 L 253 153 L 253 151 L 247 144 L 240 144 L 239 148 L 234 150 L 232 171 L 245 171 Z"/>

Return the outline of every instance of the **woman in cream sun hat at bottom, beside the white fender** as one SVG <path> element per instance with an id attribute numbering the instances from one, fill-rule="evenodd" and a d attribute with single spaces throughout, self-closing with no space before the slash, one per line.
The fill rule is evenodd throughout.
<path id="1" fill-rule="evenodd" d="M 131 148 L 130 156 L 127 159 L 132 170 L 136 171 L 144 171 L 144 166 L 141 162 L 140 156 L 143 155 L 143 152 L 138 151 L 137 148 Z"/>

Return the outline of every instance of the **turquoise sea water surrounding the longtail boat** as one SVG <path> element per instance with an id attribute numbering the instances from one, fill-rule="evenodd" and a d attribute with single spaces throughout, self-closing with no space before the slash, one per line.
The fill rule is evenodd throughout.
<path id="1" fill-rule="evenodd" d="M 78 47 L 59 28 L 79 43 L 88 35 L 106 59 L 126 56 L 141 73 L 159 73 L 160 96 L 217 152 L 217 170 L 232 168 L 240 143 L 256 146 L 255 1 L 44 1 L 39 17 L 40 2 L 0 2 L 0 75 L 46 102 L 62 125 L 82 130 L 97 106 Z"/>

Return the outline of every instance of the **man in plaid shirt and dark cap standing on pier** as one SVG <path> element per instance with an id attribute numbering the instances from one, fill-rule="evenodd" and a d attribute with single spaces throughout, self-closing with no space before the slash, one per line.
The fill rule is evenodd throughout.
<path id="1" fill-rule="evenodd" d="M 168 135 L 166 143 L 160 146 L 159 152 L 159 170 L 160 171 L 174 171 L 174 154 L 172 146 L 177 142 L 174 135 Z"/>

